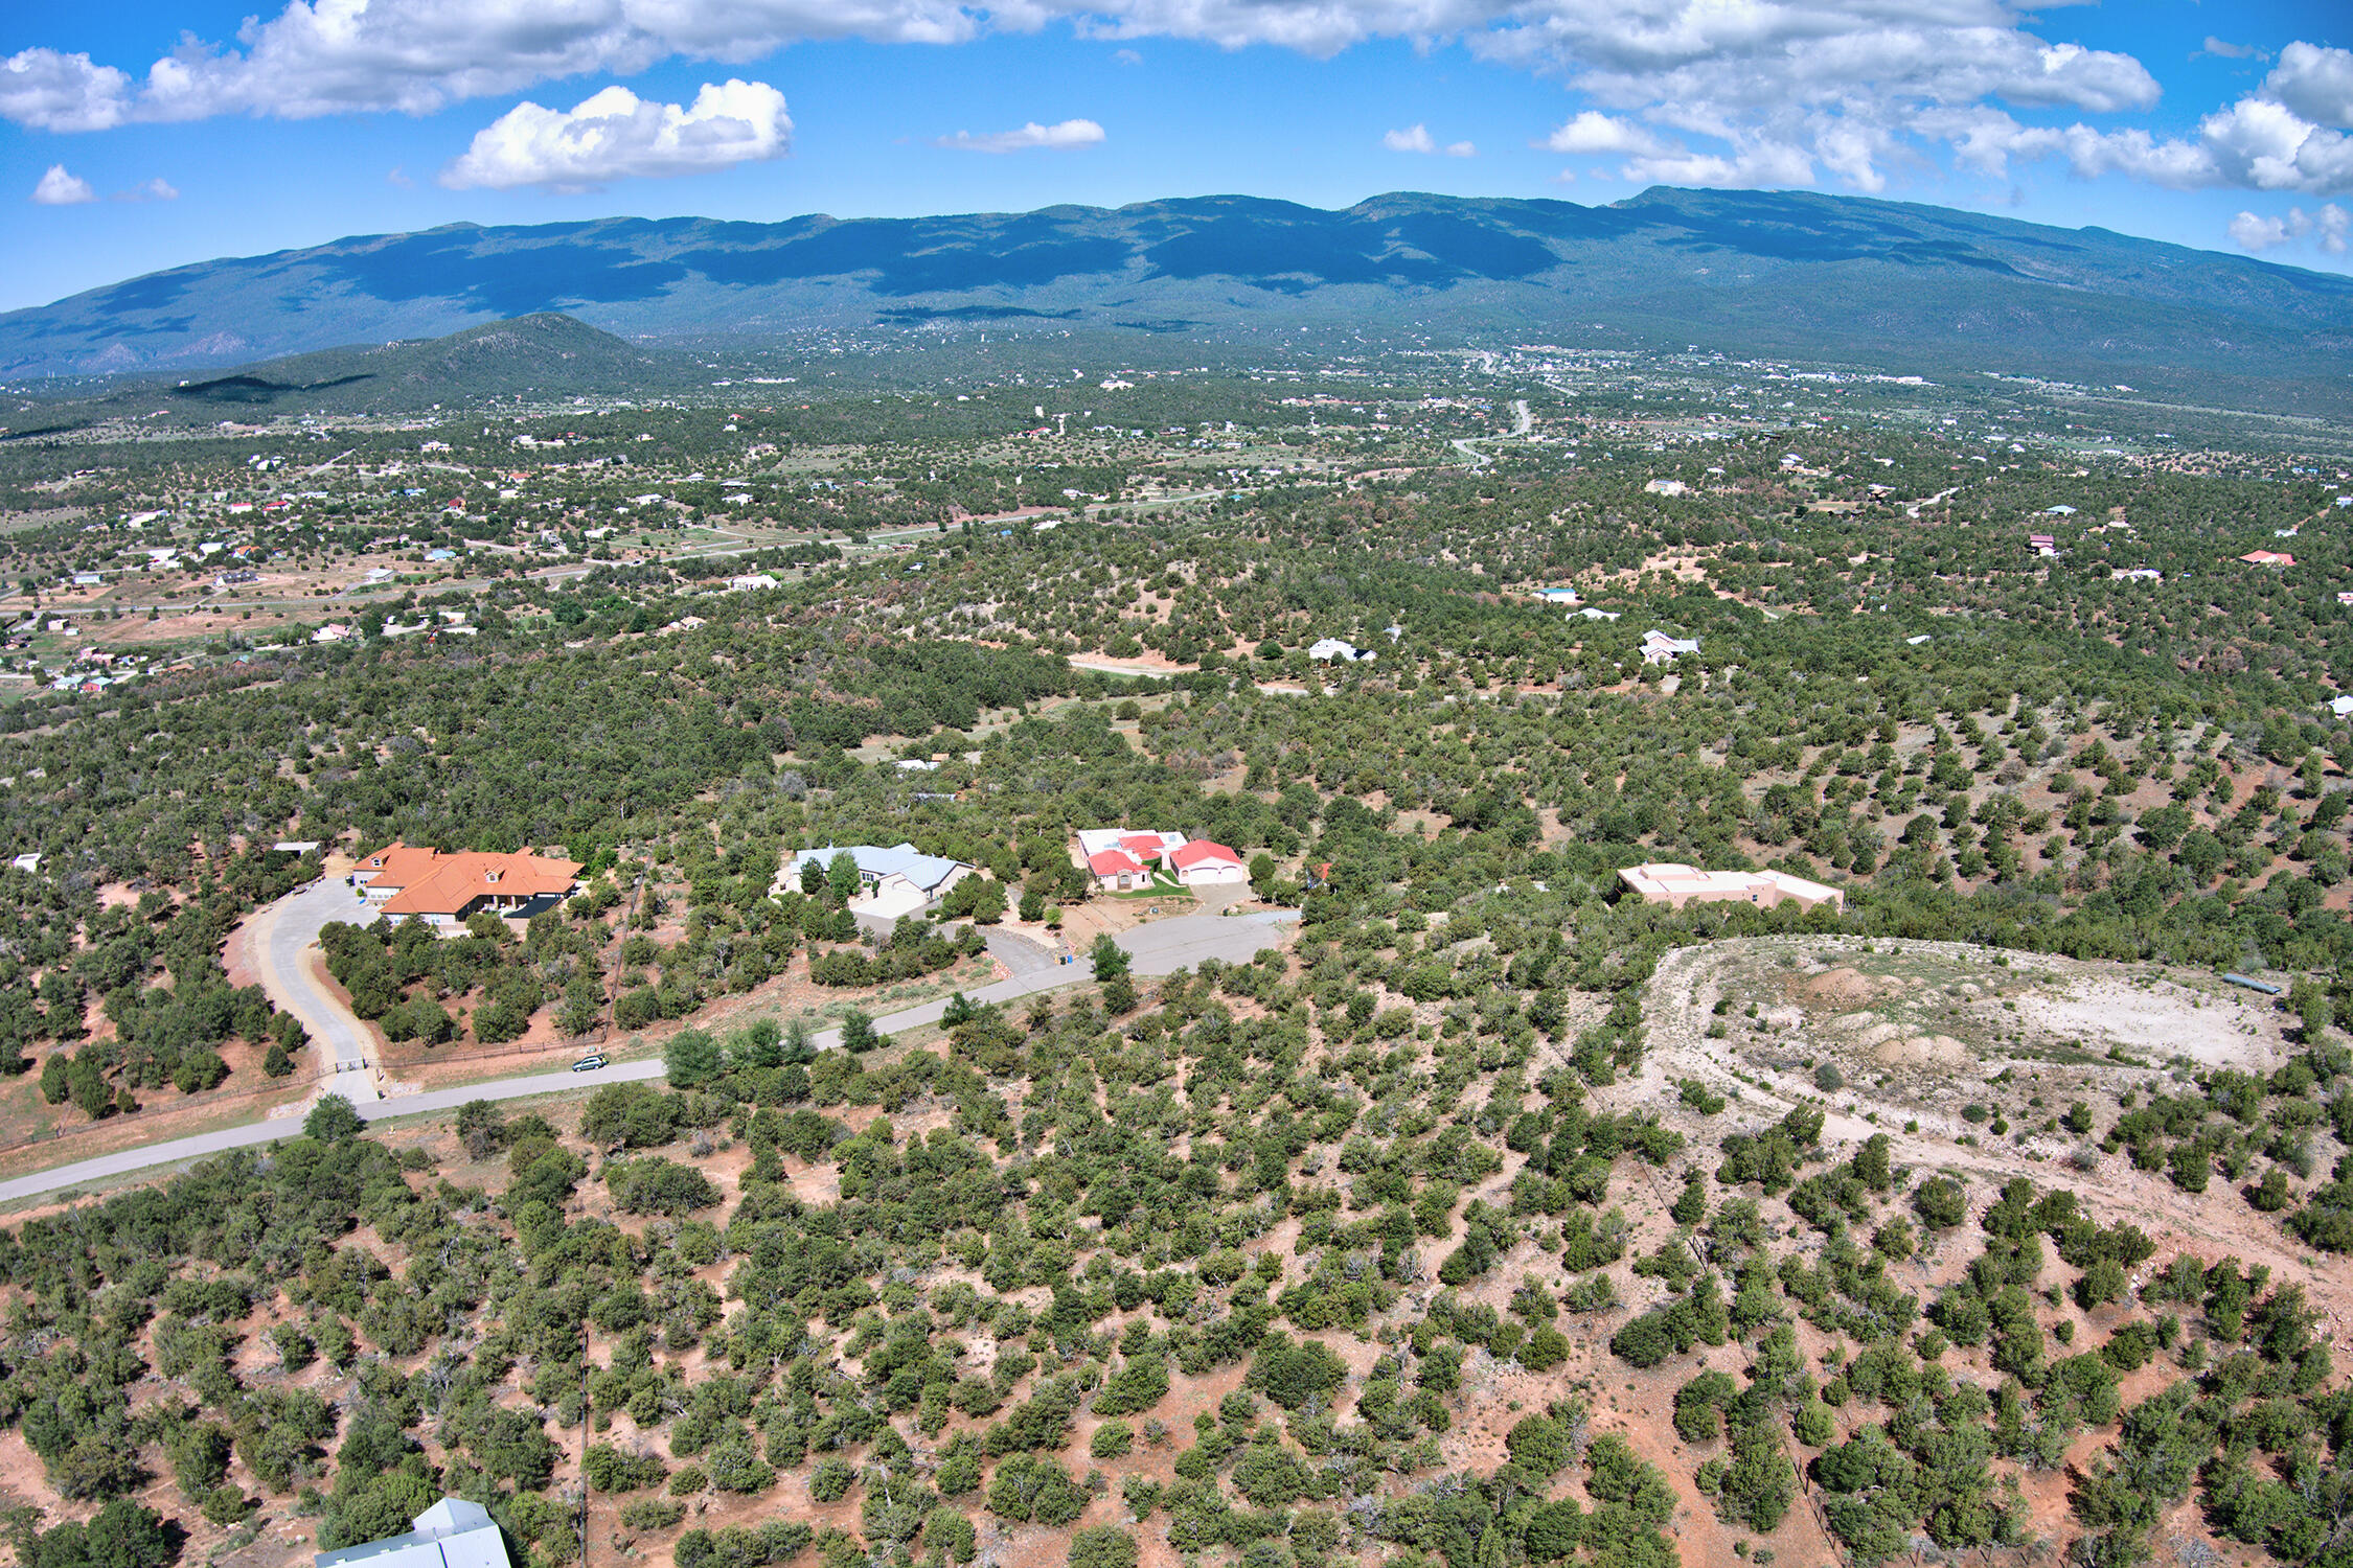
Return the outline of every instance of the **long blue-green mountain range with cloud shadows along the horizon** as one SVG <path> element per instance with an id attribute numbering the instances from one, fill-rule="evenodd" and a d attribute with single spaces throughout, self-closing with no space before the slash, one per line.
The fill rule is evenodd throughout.
<path id="1" fill-rule="evenodd" d="M 958 324 L 1473 343 L 1600 327 L 1661 348 L 2353 409 L 2353 277 L 1941 207 L 1668 188 L 1607 207 L 1398 193 L 1322 212 L 1221 195 L 449 226 L 202 261 L 0 315 L 0 376 L 188 376 L 558 310 L 647 348 Z"/>

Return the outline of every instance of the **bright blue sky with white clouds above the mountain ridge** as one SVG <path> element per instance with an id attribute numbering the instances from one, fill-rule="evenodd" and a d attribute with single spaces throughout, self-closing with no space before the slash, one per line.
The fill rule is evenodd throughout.
<path id="1" fill-rule="evenodd" d="M 2353 9 L 120 0 L 0 16 L 0 308 L 438 223 L 1812 188 L 2353 270 Z"/>

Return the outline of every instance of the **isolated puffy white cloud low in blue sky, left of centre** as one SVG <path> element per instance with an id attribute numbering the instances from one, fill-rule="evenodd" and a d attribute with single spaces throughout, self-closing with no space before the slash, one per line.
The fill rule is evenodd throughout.
<path id="1" fill-rule="evenodd" d="M 607 87 L 569 113 L 518 103 L 473 136 L 440 174 L 452 190 L 544 186 L 588 190 L 616 179 L 708 174 L 784 158 L 793 120 L 767 82 L 704 82 L 694 103 L 649 103 Z"/>

